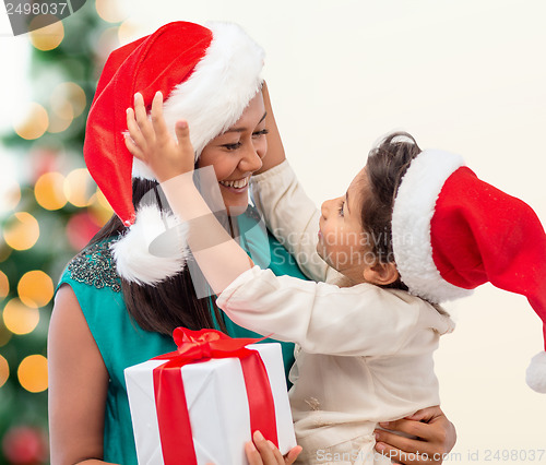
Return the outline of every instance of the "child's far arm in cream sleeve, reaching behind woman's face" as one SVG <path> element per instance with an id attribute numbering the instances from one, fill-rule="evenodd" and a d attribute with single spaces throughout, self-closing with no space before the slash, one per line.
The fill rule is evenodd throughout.
<path id="1" fill-rule="evenodd" d="M 337 282 L 341 278 L 340 273 L 317 253 L 320 213 L 286 162 L 265 83 L 262 94 L 268 112 L 268 152 L 261 169 L 250 181 L 252 200 L 263 214 L 270 231 L 296 259 L 307 277 L 313 281 Z"/>

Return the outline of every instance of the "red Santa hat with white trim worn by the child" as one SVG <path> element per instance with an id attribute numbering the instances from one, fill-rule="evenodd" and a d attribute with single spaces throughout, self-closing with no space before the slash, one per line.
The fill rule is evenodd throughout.
<path id="1" fill-rule="evenodd" d="M 544 227 L 527 204 L 479 180 L 459 155 L 424 151 L 413 159 L 394 201 L 392 241 L 412 294 L 441 302 L 489 282 L 527 298 L 546 342 Z M 533 358 L 526 381 L 546 393 L 546 351 Z"/>

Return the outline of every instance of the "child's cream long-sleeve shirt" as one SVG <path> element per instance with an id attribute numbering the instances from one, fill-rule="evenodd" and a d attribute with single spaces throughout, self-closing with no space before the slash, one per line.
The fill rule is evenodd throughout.
<path id="1" fill-rule="evenodd" d="M 304 272 L 337 279 L 335 271 L 309 258 L 316 253 L 311 240 L 288 243 L 316 238 L 318 229 L 317 208 L 288 164 L 253 183 L 271 230 L 298 261 L 306 259 Z M 454 324 L 406 291 L 277 277 L 254 266 L 217 305 L 237 324 L 300 346 L 289 396 L 301 462 L 383 463 L 372 456 L 377 424 L 440 403 L 432 353 Z"/>

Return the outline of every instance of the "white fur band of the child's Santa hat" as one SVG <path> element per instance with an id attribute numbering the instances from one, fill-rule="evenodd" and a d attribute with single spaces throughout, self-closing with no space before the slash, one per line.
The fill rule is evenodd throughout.
<path id="1" fill-rule="evenodd" d="M 392 213 L 392 247 L 402 281 L 416 296 L 438 303 L 471 290 L 448 283 L 432 259 L 430 220 L 446 180 L 461 166 L 461 156 L 423 151 L 402 178 Z"/>

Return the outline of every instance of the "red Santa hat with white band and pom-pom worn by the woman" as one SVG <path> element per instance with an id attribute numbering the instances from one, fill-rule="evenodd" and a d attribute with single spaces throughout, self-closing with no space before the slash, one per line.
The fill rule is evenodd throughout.
<path id="1" fill-rule="evenodd" d="M 112 246 L 123 278 L 156 284 L 180 272 L 187 253 L 181 237 L 171 245 L 171 253 L 150 253 L 146 238 L 174 218 L 155 206 L 136 213 L 133 207 L 132 178 L 154 179 L 124 145 L 126 109 L 133 106 L 134 94 L 140 92 L 150 109 L 162 91 L 167 127 L 175 135 L 176 121 L 188 121 L 197 159 L 212 139 L 240 118 L 260 90 L 263 57 L 236 24 L 205 27 L 187 22 L 166 24 L 109 56 L 91 106 L 83 152 L 91 176 L 129 226 Z"/>

